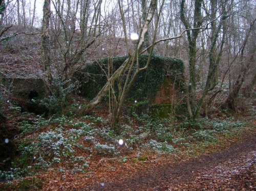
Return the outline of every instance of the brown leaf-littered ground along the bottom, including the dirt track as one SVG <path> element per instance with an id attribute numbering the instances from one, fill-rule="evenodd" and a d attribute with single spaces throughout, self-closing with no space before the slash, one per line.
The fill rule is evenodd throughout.
<path id="1" fill-rule="evenodd" d="M 126 163 L 101 159 L 90 176 L 69 174 L 65 181 L 53 171 L 41 175 L 43 189 L 255 190 L 255 135 L 254 127 L 250 127 L 242 134 L 219 140 L 218 145 L 199 146 L 194 154 L 186 150 L 161 157 L 148 154 L 139 162 L 130 156 Z"/>

